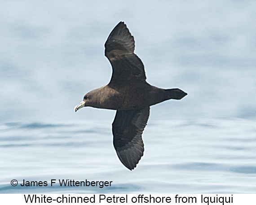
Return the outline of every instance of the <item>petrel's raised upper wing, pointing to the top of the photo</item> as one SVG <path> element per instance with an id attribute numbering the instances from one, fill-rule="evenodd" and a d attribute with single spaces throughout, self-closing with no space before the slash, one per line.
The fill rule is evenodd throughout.
<path id="1" fill-rule="evenodd" d="M 119 87 L 125 83 L 146 81 L 144 65 L 134 54 L 134 48 L 133 36 L 124 22 L 119 22 L 105 43 L 105 56 L 113 68 L 110 86 Z"/>

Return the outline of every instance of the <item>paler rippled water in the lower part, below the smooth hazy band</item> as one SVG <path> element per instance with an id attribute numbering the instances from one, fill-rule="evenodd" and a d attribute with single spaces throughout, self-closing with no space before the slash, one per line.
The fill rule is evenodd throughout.
<path id="1" fill-rule="evenodd" d="M 0 126 L 0 192 L 256 192 L 255 122 L 152 121 L 143 135 L 144 156 L 133 171 L 116 156 L 110 122 L 5 123 Z M 10 185 L 12 179 L 18 186 Z M 48 186 L 22 187 L 23 179 L 48 181 Z M 104 188 L 51 187 L 51 179 L 112 183 Z"/>

